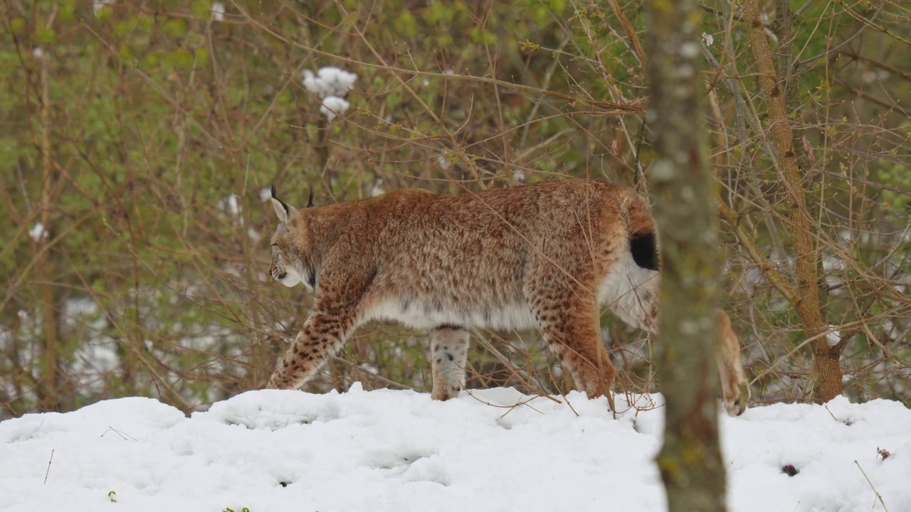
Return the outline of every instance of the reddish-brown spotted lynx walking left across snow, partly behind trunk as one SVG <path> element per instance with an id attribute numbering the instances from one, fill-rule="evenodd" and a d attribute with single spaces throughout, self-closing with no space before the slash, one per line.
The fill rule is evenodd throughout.
<path id="1" fill-rule="evenodd" d="M 430 330 L 432 398 L 465 386 L 471 327 L 536 328 L 589 397 L 616 370 L 599 306 L 654 332 L 659 261 L 655 223 L 634 190 L 560 179 L 455 195 L 404 189 L 297 210 L 275 197 L 270 275 L 316 292 L 268 387 L 297 388 L 371 320 Z M 719 312 L 723 401 L 740 415 L 749 388 L 740 347 Z"/>

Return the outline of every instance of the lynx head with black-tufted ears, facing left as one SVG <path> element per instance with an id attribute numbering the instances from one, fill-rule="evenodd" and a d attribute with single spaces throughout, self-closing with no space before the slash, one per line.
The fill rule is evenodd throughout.
<path id="1" fill-rule="evenodd" d="M 316 286 L 316 273 L 310 261 L 310 229 L 305 212 L 275 197 L 275 186 L 272 186 L 272 208 L 279 217 L 279 225 L 272 234 L 272 261 L 269 275 L 285 286 L 292 287 L 302 282 L 313 289 Z M 313 206 L 313 192 L 307 208 Z"/>

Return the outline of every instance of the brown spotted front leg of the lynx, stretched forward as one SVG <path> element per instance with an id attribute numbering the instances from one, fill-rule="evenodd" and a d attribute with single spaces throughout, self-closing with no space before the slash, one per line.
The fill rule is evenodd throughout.
<path id="1" fill-rule="evenodd" d="M 330 357 L 342 350 L 344 341 L 353 331 L 353 327 L 353 318 L 350 316 L 311 313 L 266 387 L 300 387 L 310 380 Z"/>

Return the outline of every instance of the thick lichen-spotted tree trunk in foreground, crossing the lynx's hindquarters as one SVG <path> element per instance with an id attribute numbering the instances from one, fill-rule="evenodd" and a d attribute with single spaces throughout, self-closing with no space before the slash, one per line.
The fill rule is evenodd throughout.
<path id="1" fill-rule="evenodd" d="M 718 443 L 718 212 L 703 149 L 700 12 L 695 2 L 649 4 L 647 122 L 660 230 L 659 382 L 666 398 L 661 479 L 673 511 L 725 509 Z"/>

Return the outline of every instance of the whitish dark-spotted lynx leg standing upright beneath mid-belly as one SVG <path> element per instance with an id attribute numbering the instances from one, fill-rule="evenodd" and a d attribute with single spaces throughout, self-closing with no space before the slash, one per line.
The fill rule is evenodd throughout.
<path id="1" fill-rule="evenodd" d="M 468 360 L 468 332 L 450 325 L 430 332 L 430 365 L 434 379 L 434 400 L 449 400 L 465 388 Z"/>

